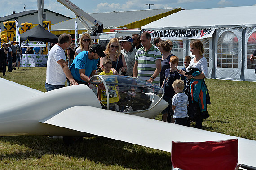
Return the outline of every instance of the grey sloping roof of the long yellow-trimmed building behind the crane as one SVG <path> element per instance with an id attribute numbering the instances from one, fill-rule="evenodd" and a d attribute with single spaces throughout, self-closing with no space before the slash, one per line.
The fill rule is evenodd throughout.
<path id="1" fill-rule="evenodd" d="M 130 24 L 132 22 L 140 21 L 161 13 L 166 13 L 177 8 L 167 8 L 167 9 L 147 9 L 147 10 L 136 10 L 136 11 L 117 11 L 117 12 L 106 12 L 106 13 L 90 13 L 97 21 L 103 23 L 104 28 L 117 28 Z M 75 20 L 77 21 L 78 30 L 85 30 L 79 19 L 73 18 L 71 20 L 59 22 L 53 24 L 51 31 L 57 30 L 74 30 Z M 90 25 L 90 24 L 88 24 Z"/>

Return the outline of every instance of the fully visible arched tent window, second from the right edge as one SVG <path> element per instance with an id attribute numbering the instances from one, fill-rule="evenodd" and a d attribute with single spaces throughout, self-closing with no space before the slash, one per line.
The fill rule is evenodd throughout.
<path id="1" fill-rule="evenodd" d="M 238 68 L 238 38 L 231 31 L 225 31 L 218 39 L 217 67 Z"/>

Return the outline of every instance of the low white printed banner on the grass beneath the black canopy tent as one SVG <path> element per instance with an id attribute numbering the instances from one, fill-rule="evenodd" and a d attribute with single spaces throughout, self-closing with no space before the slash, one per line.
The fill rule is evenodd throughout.
<path id="1" fill-rule="evenodd" d="M 22 54 L 22 67 L 46 67 L 48 55 Z"/>

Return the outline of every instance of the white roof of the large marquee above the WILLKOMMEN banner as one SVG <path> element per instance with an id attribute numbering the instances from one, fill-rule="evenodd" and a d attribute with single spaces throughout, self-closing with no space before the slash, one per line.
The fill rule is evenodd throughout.
<path id="1" fill-rule="evenodd" d="M 256 6 L 181 10 L 141 27 L 141 30 L 256 27 Z"/>

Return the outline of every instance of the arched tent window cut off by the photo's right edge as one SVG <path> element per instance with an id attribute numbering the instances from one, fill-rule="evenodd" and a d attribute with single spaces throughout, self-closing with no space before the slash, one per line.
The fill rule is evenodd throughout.
<path id="1" fill-rule="evenodd" d="M 253 32 L 247 43 L 247 69 L 255 69 L 255 62 L 256 60 L 254 59 L 253 62 L 250 61 L 250 55 L 253 54 L 253 52 L 256 50 L 256 31 Z"/>

